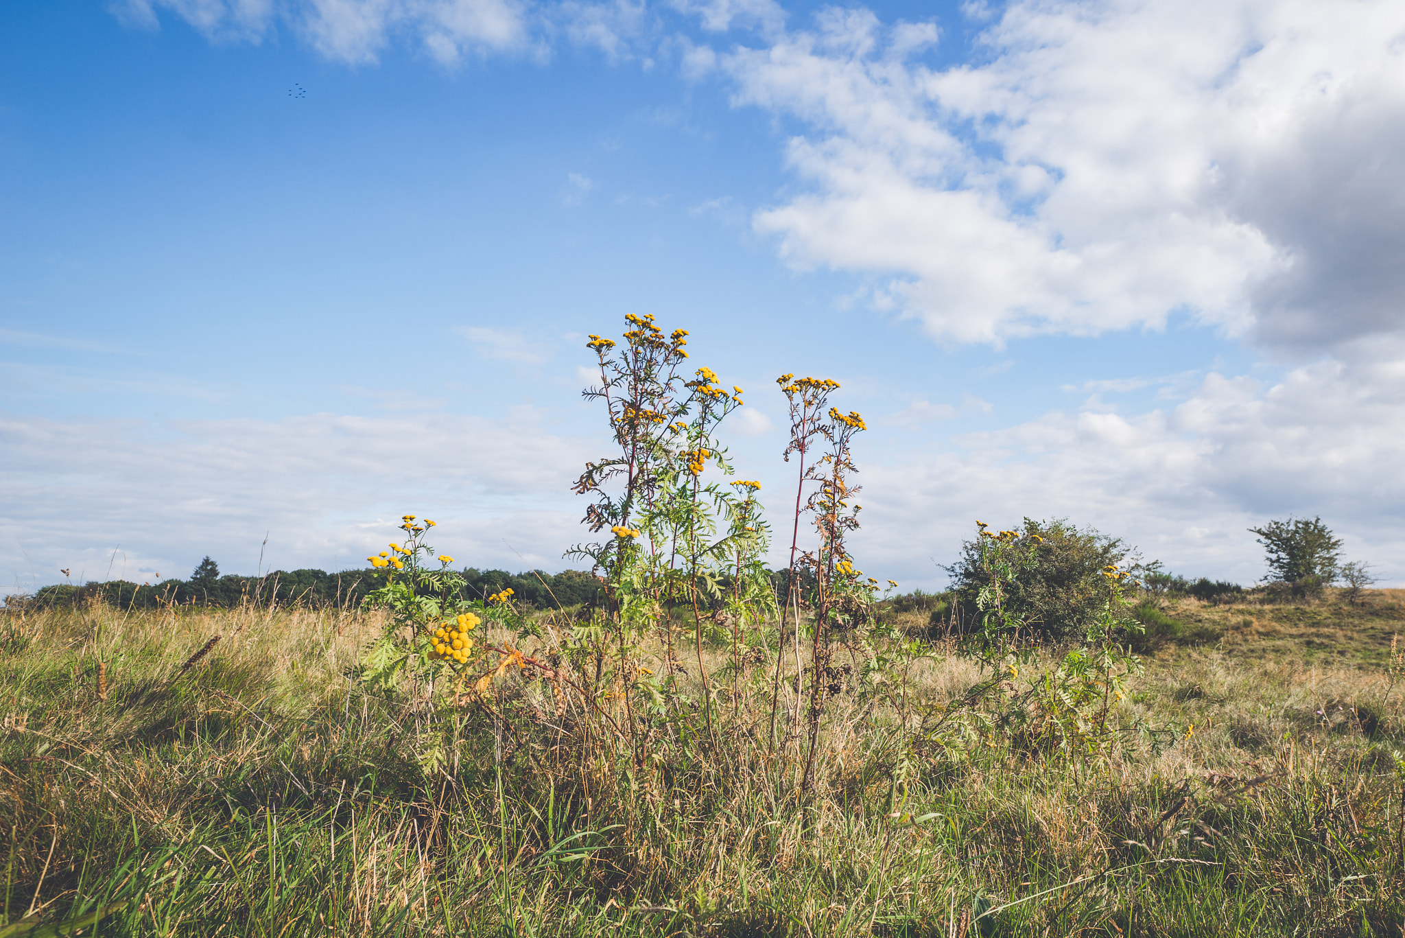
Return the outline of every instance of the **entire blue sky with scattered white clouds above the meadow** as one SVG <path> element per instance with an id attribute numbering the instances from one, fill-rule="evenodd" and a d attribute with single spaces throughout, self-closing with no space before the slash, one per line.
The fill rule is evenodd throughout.
<path id="1" fill-rule="evenodd" d="M 1405 585 L 1402 179 L 1395 1 L 4 4 L 0 591 L 570 567 L 631 312 L 777 527 L 842 384 L 903 589 L 1024 516 Z"/>

